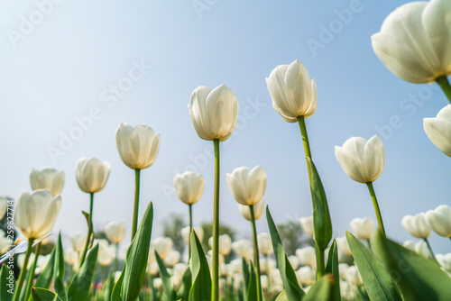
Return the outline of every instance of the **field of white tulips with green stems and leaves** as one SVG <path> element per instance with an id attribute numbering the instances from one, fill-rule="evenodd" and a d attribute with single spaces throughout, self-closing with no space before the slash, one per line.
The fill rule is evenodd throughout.
<path id="1" fill-rule="evenodd" d="M 441 89 L 450 105 L 435 118 L 424 118 L 423 128 L 440 155 L 451 157 L 451 1 L 401 5 L 388 14 L 371 41 L 375 55 L 392 74 Z M 227 158 L 222 150 L 226 141 L 233 143 L 242 101 L 226 85 L 193 87 L 190 98 L 186 97 L 186 114 L 192 124 L 178 126 L 192 128 L 198 142 L 209 143 L 214 173 L 213 177 L 195 171 L 173 175 L 178 205 L 186 213 L 186 224 L 174 222 L 184 251 L 179 251 L 169 235 L 154 231 L 155 211 L 171 205 L 150 201 L 142 193 L 142 177 L 158 160 L 164 134 L 147 124 L 120 123 L 111 134 L 115 132 L 117 153 L 134 176 L 133 187 L 126 183 L 134 192 L 129 197 L 133 215 L 124 215 L 131 221 L 130 229 L 123 221 L 110 220 L 101 231 L 97 226 L 100 213 L 94 205 L 110 178 L 108 161 L 77 161 L 75 178 L 85 196 L 80 202 L 88 206 L 74 214 L 83 215 L 86 227 L 69 233 L 67 242 L 55 223 L 64 204 L 66 175 L 73 171 L 32 169 L 31 189 L 14 197 L 0 196 L 0 301 L 451 300 L 451 252 L 435 252 L 429 240 L 431 233 L 447 242 L 451 239 L 451 206 L 406 214 L 398 223 L 416 242 L 393 239 L 388 218 L 382 214 L 387 212 L 386 204 L 378 200 L 380 187 L 373 186 L 386 167 L 384 145 L 377 134 L 353 136 L 335 147 L 343 177 L 363 187 L 367 198 L 361 201 L 371 203 L 373 212 L 354 216 L 344 236 L 333 233 L 336 223 L 327 199 L 328 183 L 321 177 L 326 171 L 317 169 L 318 149 L 308 135 L 308 118 L 317 112 L 317 82 L 301 61 L 274 66 L 265 81 L 273 114 L 299 125 L 292 139 L 299 141 L 304 153 L 291 160 L 304 164 L 305 159 L 307 168 L 313 214 L 296 218 L 307 243 L 288 251 L 283 227 L 274 222 L 272 205 L 265 204 L 267 179 L 277 175 L 267 174 L 261 165 L 230 172 L 221 169 Z M 221 186 L 221 178 L 226 187 Z M 213 211 L 205 217 L 212 221 L 211 228 L 198 225 L 193 218 L 209 186 L 213 195 L 205 202 L 212 203 Z M 230 191 L 252 239 L 235 239 L 225 233 L 220 189 Z M 282 204 L 284 200 L 277 201 Z M 140 204 L 145 205 L 144 211 Z M 344 206 L 343 210 L 350 209 Z M 267 227 L 258 227 L 258 220 Z"/>

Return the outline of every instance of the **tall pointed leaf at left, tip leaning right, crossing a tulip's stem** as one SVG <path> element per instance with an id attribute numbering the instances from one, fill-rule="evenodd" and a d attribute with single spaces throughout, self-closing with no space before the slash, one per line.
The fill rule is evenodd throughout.
<path id="1" fill-rule="evenodd" d="M 138 227 L 138 231 L 133 237 L 133 241 L 127 250 L 125 258 L 124 282 L 122 287 L 122 299 L 124 301 L 134 301 L 139 296 L 145 277 L 147 259 L 151 246 L 153 221 L 153 206 L 149 203 L 143 215 L 143 219 Z"/>

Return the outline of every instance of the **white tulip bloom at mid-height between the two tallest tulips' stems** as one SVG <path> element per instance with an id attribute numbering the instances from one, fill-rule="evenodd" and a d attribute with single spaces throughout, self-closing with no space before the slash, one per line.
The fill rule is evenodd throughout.
<path id="1" fill-rule="evenodd" d="M 260 165 L 249 168 L 235 169 L 227 174 L 227 183 L 235 200 L 241 205 L 255 205 L 266 189 L 266 172 Z"/>

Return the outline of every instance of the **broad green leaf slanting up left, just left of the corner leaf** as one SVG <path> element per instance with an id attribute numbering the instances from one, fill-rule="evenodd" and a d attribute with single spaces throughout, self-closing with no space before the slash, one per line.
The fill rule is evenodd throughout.
<path id="1" fill-rule="evenodd" d="M 362 242 L 346 231 L 349 248 L 353 252 L 355 265 L 364 281 L 364 287 L 371 300 L 402 300 L 398 288 L 392 283 L 390 274 L 373 253 Z"/>

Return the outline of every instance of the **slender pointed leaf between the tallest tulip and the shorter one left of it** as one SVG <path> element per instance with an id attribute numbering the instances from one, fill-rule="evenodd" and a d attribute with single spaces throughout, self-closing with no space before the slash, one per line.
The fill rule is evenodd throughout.
<path id="1" fill-rule="evenodd" d="M 268 220 L 268 227 L 270 228 L 272 239 L 272 249 L 274 250 L 279 272 L 281 273 L 283 287 L 285 287 L 286 294 L 290 301 L 299 301 L 306 293 L 299 287 L 298 279 L 285 254 L 285 250 L 281 243 L 281 236 L 277 232 L 277 227 L 272 220 L 268 206 L 266 206 L 266 219 Z"/>

